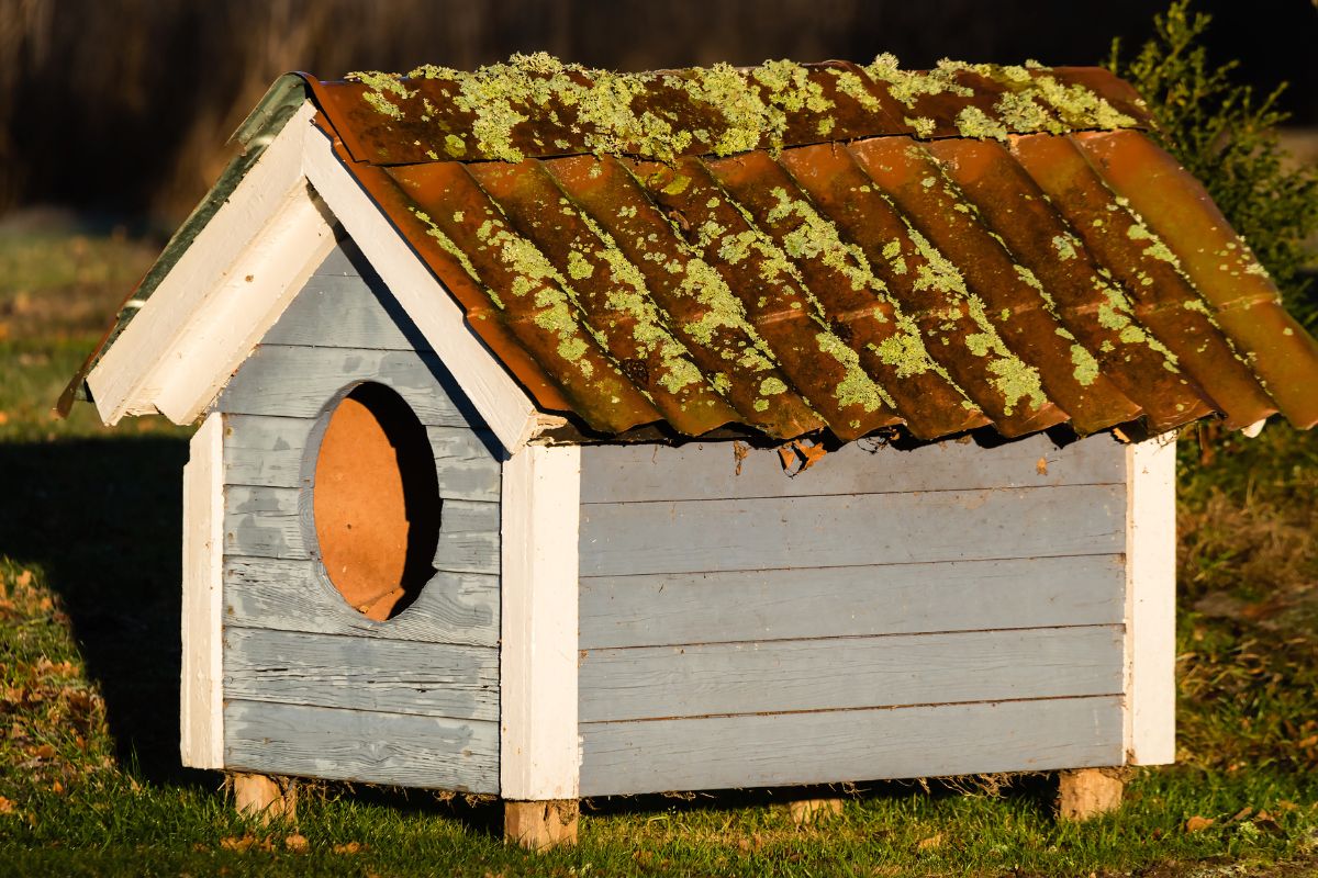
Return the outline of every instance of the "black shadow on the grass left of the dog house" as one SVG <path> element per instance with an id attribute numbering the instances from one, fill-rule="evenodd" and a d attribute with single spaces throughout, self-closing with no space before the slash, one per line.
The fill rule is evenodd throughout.
<path id="1" fill-rule="evenodd" d="M 214 783 L 178 757 L 186 461 L 178 437 L 0 444 L 0 554 L 40 565 L 63 600 L 121 763 Z"/>

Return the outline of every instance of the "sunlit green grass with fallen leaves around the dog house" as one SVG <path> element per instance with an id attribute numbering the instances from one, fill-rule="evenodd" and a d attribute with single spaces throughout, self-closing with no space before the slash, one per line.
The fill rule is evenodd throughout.
<path id="1" fill-rule="evenodd" d="M 1191 430 L 1180 500 L 1180 753 L 1127 803 L 1052 816 L 1056 779 L 585 803 L 581 844 L 498 840 L 497 803 L 312 785 L 297 824 L 178 763 L 187 430 L 50 407 L 146 269 L 125 236 L 0 230 L 0 869 L 22 875 L 1318 874 L 1318 436 Z"/>

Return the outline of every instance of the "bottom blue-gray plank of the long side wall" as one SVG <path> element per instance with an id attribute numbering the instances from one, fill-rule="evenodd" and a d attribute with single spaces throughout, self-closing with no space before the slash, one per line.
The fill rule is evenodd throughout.
<path id="1" fill-rule="evenodd" d="M 1122 765 L 1122 699 L 584 723 L 581 795 Z"/>

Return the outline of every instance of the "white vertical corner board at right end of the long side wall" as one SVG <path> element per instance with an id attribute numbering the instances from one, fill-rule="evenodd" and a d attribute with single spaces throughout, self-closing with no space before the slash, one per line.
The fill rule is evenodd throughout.
<path id="1" fill-rule="evenodd" d="M 1176 434 L 1126 448 L 1126 754 L 1176 761 Z"/>

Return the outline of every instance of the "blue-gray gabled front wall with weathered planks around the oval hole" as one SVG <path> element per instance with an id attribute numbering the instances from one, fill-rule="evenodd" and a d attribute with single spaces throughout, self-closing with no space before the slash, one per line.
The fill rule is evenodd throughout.
<path id="1" fill-rule="evenodd" d="M 426 426 L 442 499 L 436 573 L 382 623 L 333 588 L 311 520 L 319 437 L 366 380 Z M 501 446 L 351 244 L 217 409 L 225 767 L 497 792 Z"/>

